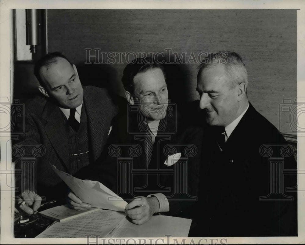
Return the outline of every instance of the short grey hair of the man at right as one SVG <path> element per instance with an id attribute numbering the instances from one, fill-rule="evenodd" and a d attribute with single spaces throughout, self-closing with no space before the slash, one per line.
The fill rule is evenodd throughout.
<path id="1" fill-rule="evenodd" d="M 238 53 L 231 51 L 219 51 L 209 53 L 200 63 L 197 78 L 204 69 L 208 69 L 215 64 L 223 64 L 228 78 L 227 84 L 234 88 L 244 82 L 248 86 L 248 74 L 242 57 Z"/>

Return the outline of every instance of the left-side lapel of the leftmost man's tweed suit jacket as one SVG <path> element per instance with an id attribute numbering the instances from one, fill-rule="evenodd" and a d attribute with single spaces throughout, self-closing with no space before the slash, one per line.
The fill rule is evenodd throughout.
<path id="1" fill-rule="evenodd" d="M 54 150 L 63 163 L 69 167 L 68 139 L 59 107 L 52 102 L 47 101 L 42 112 L 42 118 L 47 121 L 44 129 Z"/>

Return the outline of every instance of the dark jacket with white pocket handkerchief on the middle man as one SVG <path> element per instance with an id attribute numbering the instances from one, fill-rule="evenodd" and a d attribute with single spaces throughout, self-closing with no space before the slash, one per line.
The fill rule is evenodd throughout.
<path id="1" fill-rule="evenodd" d="M 202 131 L 187 127 L 169 114 L 159 123 L 148 168 L 142 141 L 144 132 L 137 117 L 122 114 L 117 117 L 99 169 L 95 165 L 88 178 L 98 180 L 127 200 L 163 193 L 170 204 L 169 214 L 187 216 L 186 208 L 197 200 Z M 179 152 L 179 161 L 167 167 L 164 162 L 168 155 Z"/>

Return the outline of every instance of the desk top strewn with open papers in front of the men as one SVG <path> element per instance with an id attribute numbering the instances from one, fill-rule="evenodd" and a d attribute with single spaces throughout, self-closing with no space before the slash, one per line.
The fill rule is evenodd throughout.
<path id="1" fill-rule="evenodd" d="M 191 220 L 185 218 L 154 215 L 142 224 L 135 225 L 123 212 L 99 210 L 81 217 L 57 222 L 46 229 L 53 221 L 41 217 L 33 224 L 23 228 L 22 232 L 15 231 L 15 237 L 77 237 L 85 238 L 88 235 L 99 234 L 101 237 L 173 237 L 188 236 Z M 38 229 L 39 228 L 39 229 Z M 85 235 L 87 236 L 85 236 Z"/>

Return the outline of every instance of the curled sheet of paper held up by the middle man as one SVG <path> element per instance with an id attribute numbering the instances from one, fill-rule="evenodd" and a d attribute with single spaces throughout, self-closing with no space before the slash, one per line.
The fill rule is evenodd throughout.
<path id="1" fill-rule="evenodd" d="M 58 170 L 54 165 L 52 165 L 52 168 L 84 203 L 90 204 L 91 207 L 124 212 L 127 202 L 102 183 L 75 178 Z"/>

